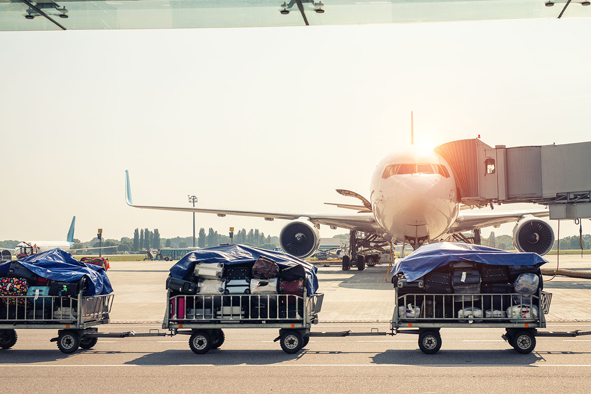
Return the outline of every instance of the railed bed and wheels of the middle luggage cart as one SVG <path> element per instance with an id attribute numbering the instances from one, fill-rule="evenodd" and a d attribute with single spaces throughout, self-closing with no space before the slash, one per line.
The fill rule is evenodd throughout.
<path id="1" fill-rule="evenodd" d="M 223 328 L 278 328 L 281 349 L 297 353 L 318 323 L 323 294 L 171 295 L 163 328 L 172 335 L 190 335 L 194 353 L 222 346 Z M 183 312 L 184 311 L 184 312 Z M 180 313 L 179 313 L 180 312 Z"/>

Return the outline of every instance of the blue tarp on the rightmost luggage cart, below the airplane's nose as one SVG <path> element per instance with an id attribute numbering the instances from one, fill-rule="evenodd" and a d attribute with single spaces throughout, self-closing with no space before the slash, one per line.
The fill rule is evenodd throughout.
<path id="1" fill-rule="evenodd" d="M 438 242 L 421 246 L 395 263 L 390 272 L 404 272 L 407 281 L 415 281 L 452 261 L 475 261 L 492 265 L 535 265 L 548 262 L 537 253 L 515 253 L 469 243 Z"/>

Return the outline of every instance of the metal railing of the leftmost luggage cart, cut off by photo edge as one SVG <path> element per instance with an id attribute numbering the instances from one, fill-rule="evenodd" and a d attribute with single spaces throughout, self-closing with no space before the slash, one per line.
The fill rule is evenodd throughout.
<path id="1" fill-rule="evenodd" d="M 113 294 L 93 297 L 50 295 L 0 297 L 0 328 L 83 329 L 109 323 Z"/>

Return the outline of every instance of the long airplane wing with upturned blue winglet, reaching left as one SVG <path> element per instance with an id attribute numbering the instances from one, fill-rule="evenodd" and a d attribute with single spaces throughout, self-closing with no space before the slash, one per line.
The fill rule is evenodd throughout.
<path id="1" fill-rule="evenodd" d="M 309 213 L 309 212 L 282 212 L 282 211 L 243 211 L 230 209 L 205 209 L 193 207 L 161 207 L 136 205 L 131 199 L 131 184 L 129 183 L 129 171 L 125 170 L 125 201 L 130 207 L 141 209 L 157 209 L 164 211 L 196 212 L 196 213 L 214 213 L 223 217 L 226 215 L 263 217 L 265 220 L 274 219 L 294 220 L 305 217 L 310 222 L 320 225 L 325 224 L 330 227 L 340 227 L 343 229 L 357 230 L 367 233 L 379 233 L 380 227 L 375 221 L 373 213 Z"/>

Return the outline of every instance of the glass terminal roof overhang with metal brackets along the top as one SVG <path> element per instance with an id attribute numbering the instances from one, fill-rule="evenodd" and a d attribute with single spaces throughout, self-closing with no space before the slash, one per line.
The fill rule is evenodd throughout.
<path id="1" fill-rule="evenodd" d="M 586 5 L 584 0 L 0 0 L 0 31 L 590 17 L 591 6 Z"/>

